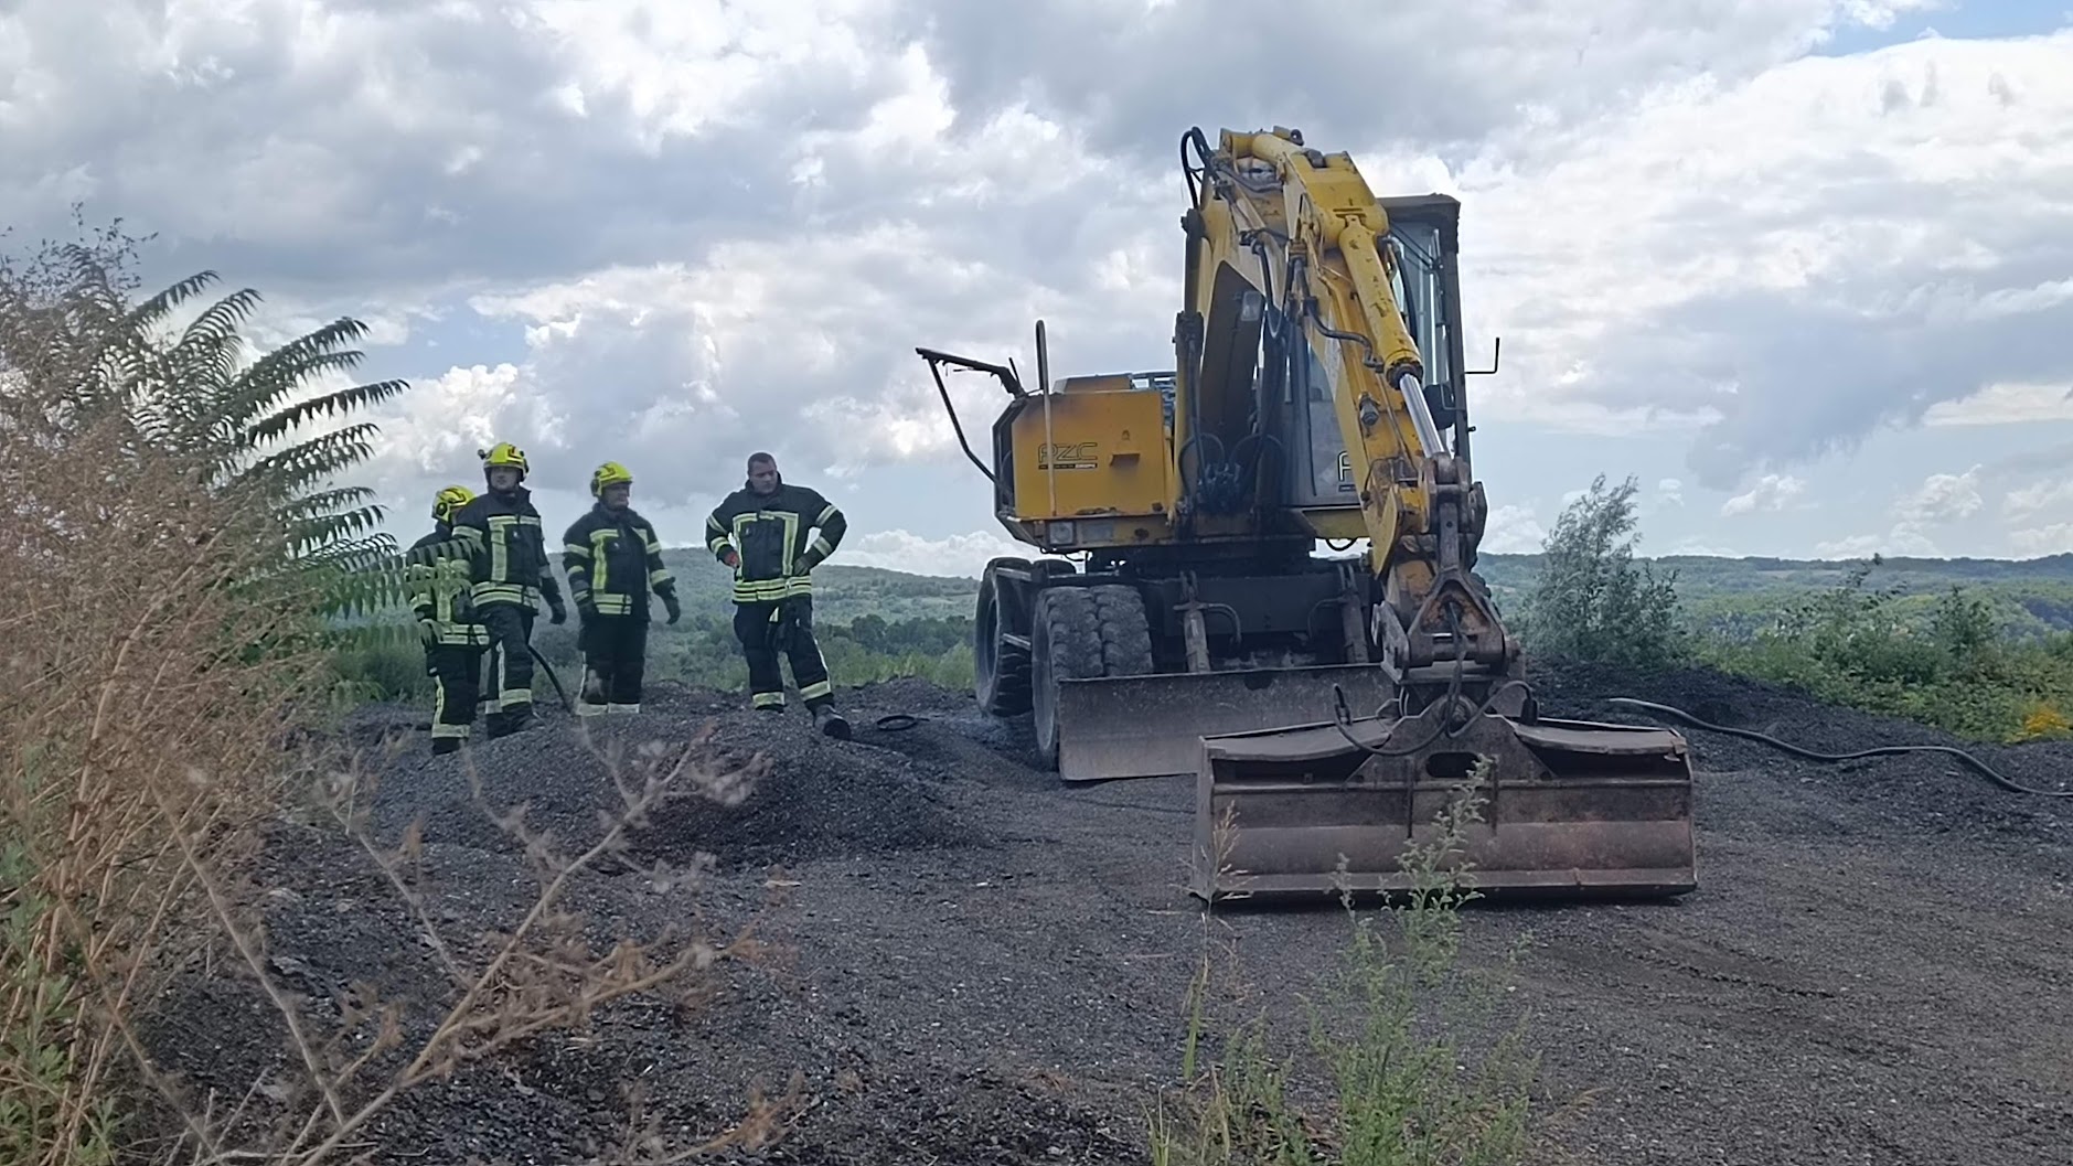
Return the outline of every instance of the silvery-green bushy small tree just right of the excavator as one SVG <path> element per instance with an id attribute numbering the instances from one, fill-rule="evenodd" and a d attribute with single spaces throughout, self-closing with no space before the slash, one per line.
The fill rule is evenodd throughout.
<path id="1" fill-rule="evenodd" d="M 1520 619 L 1536 652 L 1642 667 L 1685 654 L 1677 572 L 1634 557 L 1638 489 L 1631 476 L 1607 489 L 1598 474 L 1555 520 Z"/>

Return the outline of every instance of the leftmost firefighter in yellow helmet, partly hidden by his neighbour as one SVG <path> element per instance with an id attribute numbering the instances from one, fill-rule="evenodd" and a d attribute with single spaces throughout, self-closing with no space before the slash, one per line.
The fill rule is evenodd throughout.
<path id="1" fill-rule="evenodd" d="M 454 514 L 475 499 L 468 487 L 446 487 L 431 501 L 433 528 L 410 545 L 421 551 L 454 536 Z M 410 611 L 425 644 L 431 675 L 431 752 L 450 754 L 468 739 L 481 694 L 483 648 L 489 630 L 475 619 L 468 599 L 468 563 L 456 557 L 413 557 L 404 565 Z"/>

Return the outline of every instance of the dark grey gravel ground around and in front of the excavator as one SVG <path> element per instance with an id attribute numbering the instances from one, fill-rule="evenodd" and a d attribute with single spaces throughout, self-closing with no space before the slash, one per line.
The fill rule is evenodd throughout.
<path id="1" fill-rule="evenodd" d="M 1816 750 L 1942 741 L 1934 731 L 1710 673 L 1540 667 L 1557 715 L 1636 719 L 1602 696 L 1687 708 Z M 856 739 L 802 712 L 659 688 L 603 737 L 715 744 L 775 764 L 734 806 L 651 816 L 626 855 L 572 886 L 593 936 L 752 924 L 709 994 L 636 998 L 404 1096 L 375 1131 L 408 1162 L 589 1162 L 638 1083 L 655 1129 L 697 1141 L 796 1073 L 804 1108 L 752 1162 L 1142 1162 L 1144 1106 L 1180 1065 L 1202 917 L 1184 895 L 1192 785 L 1063 789 L 1028 764 L 1026 723 L 898 681 L 844 694 Z M 906 731 L 881 715 L 922 717 Z M 423 756 L 413 710 L 373 826 L 425 839 L 421 886 L 454 944 L 510 926 L 522 847 L 471 801 L 458 758 Z M 2065 1162 L 2073 1143 L 2073 806 L 2009 793 L 1951 758 L 1814 764 L 1692 729 L 1700 888 L 1669 905 L 1470 915 L 1468 949 L 1526 940 L 1520 990 L 1542 1062 L 1544 1162 Z M 2065 785 L 2073 748 L 1980 750 Z M 574 723 L 477 744 L 487 801 L 587 847 L 618 795 Z M 740 791 L 736 791 L 740 793 Z M 384 880 L 336 837 L 284 828 L 269 951 L 313 1009 L 352 982 L 435 998 L 439 963 Z M 697 872 L 657 888 L 657 864 Z M 1283 1004 L 1323 990 L 1337 911 L 1225 917 L 1244 984 Z M 1277 1007 L 1279 1011 L 1279 1007 Z M 199 982 L 160 1029 L 195 1073 L 278 1062 L 267 1009 Z M 214 1067 L 214 1069 L 211 1069 Z M 243 1077 L 243 1079 L 249 1079 Z M 238 1081 L 243 1081 L 238 1079 Z M 386 1158 L 384 1158 L 386 1160 Z"/>

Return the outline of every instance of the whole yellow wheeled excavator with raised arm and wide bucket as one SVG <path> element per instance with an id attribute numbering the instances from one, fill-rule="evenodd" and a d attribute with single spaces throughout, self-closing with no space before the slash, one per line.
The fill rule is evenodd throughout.
<path id="1" fill-rule="evenodd" d="M 1171 371 L 1053 381 L 1043 321 L 1034 387 L 916 348 L 1047 553 L 981 578 L 978 704 L 1063 781 L 1194 775 L 1204 899 L 1408 886 L 1478 758 L 1482 895 L 1692 891 L 1683 737 L 1540 717 L 1474 572 L 1459 203 L 1374 197 L 1279 126 L 1192 128 L 1182 172 Z M 1005 389 L 991 458 L 945 369 Z"/>

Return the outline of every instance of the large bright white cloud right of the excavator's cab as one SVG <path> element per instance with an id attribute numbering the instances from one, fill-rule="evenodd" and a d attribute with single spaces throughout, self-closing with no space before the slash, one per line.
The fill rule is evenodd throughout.
<path id="1" fill-rule="evenodd" d="M 1692 468 L 1727 489 L 1986 385 L 2073 379 L 2069 54 L 2073 31 L 1922 39 L 1499 135 L 1459 172 L 1470 319 L 1520 352 L 1486 412 L 1704 418 Z"/>

